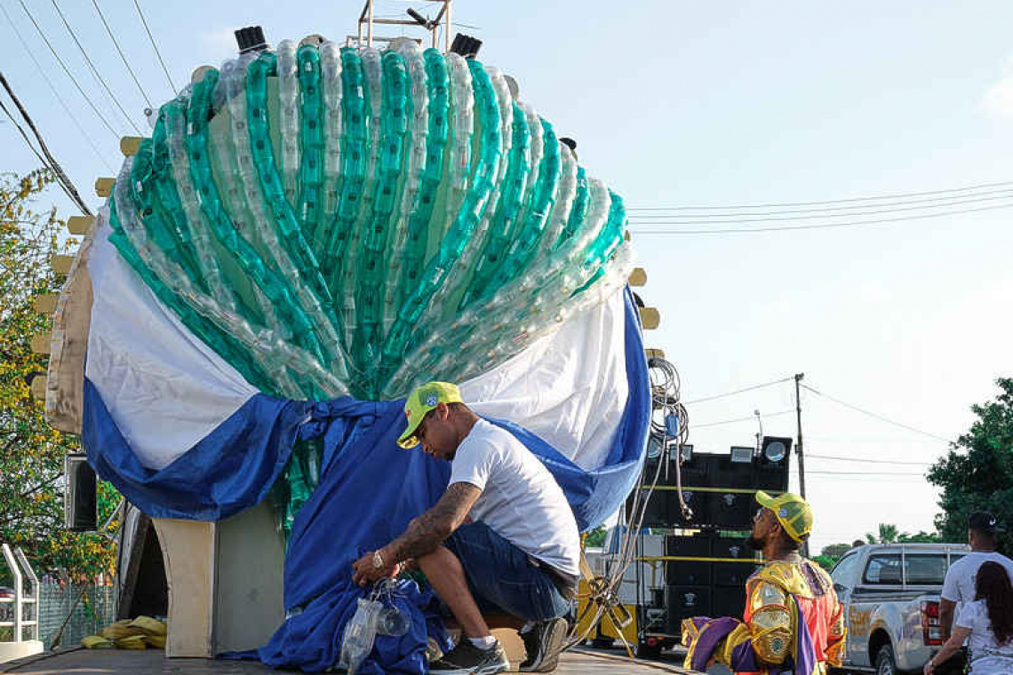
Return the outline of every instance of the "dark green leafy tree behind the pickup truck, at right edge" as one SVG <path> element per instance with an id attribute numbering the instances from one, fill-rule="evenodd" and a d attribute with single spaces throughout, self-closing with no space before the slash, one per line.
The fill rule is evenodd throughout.
<path id="1" fill-rule="evenodd" d="M 929 469 L 929 483 L 942 488 L 935 524 L 946 541 L 966 540 L 975 511 L 991 511 L 1007 529 L 1013 526 L 1013 378 L 996 385 L 999 396 L 971 406 L 978 419 Z M 1009 536 L 1000 538 L 999 550 L 1013 553 Z"/>

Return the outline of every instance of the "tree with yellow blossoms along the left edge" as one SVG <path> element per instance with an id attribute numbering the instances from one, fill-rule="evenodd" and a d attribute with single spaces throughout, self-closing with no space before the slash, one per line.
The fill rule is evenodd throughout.
<path id="1" fill-rule="evenodd" d="M 29 391 L 30 379 L 46 374 L 46 357 L 29 342 L 50 329 L 33 301 L 59 289 L 50 257 L 67 248 L 56 209 L 33 210 L 53 180 L 43 170 L 0 174 L 0 540 L 21 546 L 38 572 L 63 569 L 86 580 L 111 569 L 114 544 L 63 528 L 63 457 L 80 446 L 46 423 L 45 407 Z M 101 484 L 99 518 L 118 501 Z"/>

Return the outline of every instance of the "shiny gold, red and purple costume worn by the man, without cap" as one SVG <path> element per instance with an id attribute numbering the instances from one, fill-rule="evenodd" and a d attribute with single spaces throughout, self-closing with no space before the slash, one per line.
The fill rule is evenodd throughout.
<path id="1" fill-rule="evenodd" d="M 844 611 L 820 566 L 804 559 L 768 563 L 746 582 L 746 593 L 743 621 L 683 621 L 687 668 L 704 671 L 716 661 L 736 673 L 826 675 L 828 666 L 841 665 Z"/>

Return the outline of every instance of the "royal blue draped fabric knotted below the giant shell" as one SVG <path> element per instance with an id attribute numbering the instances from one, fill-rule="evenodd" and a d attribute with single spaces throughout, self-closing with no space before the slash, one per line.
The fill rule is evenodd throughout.
<path id="1" fill-rule="evenodd" d="M 630 395 L 616 442 L 601 469 L 583 471 L 523 427 L 490 420 L 515 433 L 545 462 L 563 488 L 581 531 L 622 505 L 643 461 L 650 388 L 638 321 L 627 293 Z M 352 583 L 352 563 L 400 534 L 447 486 L 448 462 L 403 450 L 395 442 L 404 428 L 402 410 L 403 401 L 344 397 L 309 403 L 257 395 L 171 465 L 152 471 L 138 461 L 86 381 L 82 442 L 99 476 L 148 515 L 219 519 L 263 499 L 297 438 L 322 435 L 320 485 L 295 520 L 286 556 L 285 606 L 299 613 L 256 653 L 271 666 L 316 672 L 337 661 L 341 629 L 364 594 Z M 367 661 L 362 672 L 422 672 L 421 606 L 426 600 L 417 591 L 406 592 L 399 602 L 412 612 L 412 629 L 403 638 L 379 639 L 377 661 Z"/>

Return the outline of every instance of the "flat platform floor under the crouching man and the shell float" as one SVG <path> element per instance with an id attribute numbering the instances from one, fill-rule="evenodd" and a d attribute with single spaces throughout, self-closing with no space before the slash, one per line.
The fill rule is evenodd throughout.
<path id="1" fill-rule="evenodd" d="M 0 673 L 16 675 L 206 675 L 210 673 L 278 673 L 252 661 L 212 661 L 208 659 L 166 659 L 161 653 L 125 650 L 75 649 L 0 663 Z M 687 675 L 693 671 L 678 667 L 678 660 L 630 661 L 616 650 L 577 649 L 562 655 L 556 675 Z"/>

